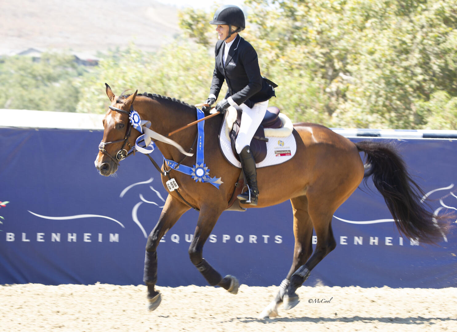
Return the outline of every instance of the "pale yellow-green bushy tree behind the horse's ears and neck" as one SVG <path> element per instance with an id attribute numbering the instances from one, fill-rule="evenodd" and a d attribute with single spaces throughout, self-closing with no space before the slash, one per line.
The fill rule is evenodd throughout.
<path id="1" fill-rule="evenodd" d="M 80 112 L 105 113 L 108 83 L 115 93 L 125 89 L 180 99 L 190 104 L 206 99 L 211 82 L 213 60 L 205 47 L 184 40 L 150 54 L 133 46 L 111 53 L 81 81 Z"/>

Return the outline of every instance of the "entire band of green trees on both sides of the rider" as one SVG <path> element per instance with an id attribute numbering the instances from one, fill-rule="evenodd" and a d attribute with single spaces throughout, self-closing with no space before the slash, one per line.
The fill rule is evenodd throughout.
<path id="1" fill-rule="evenodd" d="M 241 35 L 262 75 L 279 84 L 270 105 L 293 121 L 457 129 L 457 0 L 246 0 L 245 8 Z M 90 70 L 70 56 L 5 58 L 0 107 L 102 113 L 105 82 L 117 93 L 202 102 L 214 68 L 214 10 L 181 11 L 182 36 L 157 53 L 130 46 Z"/>

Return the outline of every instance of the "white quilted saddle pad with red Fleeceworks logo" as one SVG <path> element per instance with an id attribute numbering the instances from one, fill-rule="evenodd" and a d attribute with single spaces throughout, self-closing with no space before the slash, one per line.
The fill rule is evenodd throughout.
<path id="1" fill-rule="evenodd" d="M 284 163 L 292 158 L 297 152 L 297 143 L 292 134 L 293 126 L 292 121 L 282 113 L 279 113 L 282 121 L 282 128 L 264 129 L 265 137 L 268 138 L 266 142 L 266 157 L 260 163 L 256 163 L 257 168 L 277 165 Z M 230 144 L 230 137 L 228 132 L 232 130 L 234 121 L 236 120 L 236 110 L 234 107 L 229 107 L 226 112 L 221 132 L 219 133 L 219 143 L 225 158 L 229 163 L 235 167 L 241 168 L 241 163 L 235 158 L 232 146 Z"/>

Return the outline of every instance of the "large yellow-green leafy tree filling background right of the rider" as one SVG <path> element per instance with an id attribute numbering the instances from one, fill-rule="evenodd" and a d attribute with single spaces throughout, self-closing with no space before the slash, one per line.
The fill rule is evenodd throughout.
<path id="1" fill-rule="evenodd" d="M 424 128 L 438 125 L 424 111 L 430 95 L 456 96 L 456 0 L 246 4 L 242 34 L 258 51 L 262 74 L 280 85 L 271 103 L 294 120 Z M 210 16 L 181 19 L 190 17 L 201 25 Z"/>

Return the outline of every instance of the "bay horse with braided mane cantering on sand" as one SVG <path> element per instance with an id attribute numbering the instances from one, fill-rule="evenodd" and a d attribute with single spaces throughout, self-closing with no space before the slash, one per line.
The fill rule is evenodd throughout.
<path id="1" fill-rule="evenodd" d="M 106 84 L 106 95 L 112 105 L 103 119 L 103 139 L 95 161 L 101 175 L 109 176 L 117 171 L 119 161 L 127 156 L 140 135 L 137 130 L 132 130 L 129 121 L 131 111 L 138 112 L 141 119 L 150 121 L 150 129 L 164 137 L 174 129 L 197 120 L 195 106 L 160 95 L 137 94 L 137 91 L 116 96 Z M 191 176 L 170 169 L 165 163 L 160 169 L 168 197 L 146 243 L 143 280 L 148 289 L 149 310 L 156 309 L 161 300 L 160 293 L 154 289 L 159 241 L 191 207 L 199 210 L 197 227 L 189 247 L 191 262 L 209 285 L 221 286 L 233 294 L 238 292 L 238 279 L 232 275 L 222 277 L 202 254 L 203 246 L 219 216 L 228 208 L 228 201 L 241 172 L 241 169 L 228 163 L 220 150 L 218 132 L 222 120 L 223 116 L 217 115 L 205 120 L 204 126 L 207 166 L 212 174 L 222 176 L 223 183 L 218 188 L 196 182 Z M 295 237 L 292 266 L 275 299 L 260 314 L 261 318 L 276 316 L 277 307 L 282 302 L 287 310 L 298 304 L 297 288 L 336 247 L 331 227 L 332 216 L 364 178 L 372 177 L 404 236 L 422 243 L 437 243 L 448 225 L 448 216 L 435 216 L 422 204 L 423 191 L 410 177 L 404 161 L 391 144 L 373 141 L 353 143 L 329 128 L 313 123 L 294 124 L 292 134 L 297 141 L 296 155 L 287 162 L 257 170 L 260 195 L 255 207 L 272 206 L 290 200 Z M 172 137 L 183 148 L 156 141 L 164 158 L 189 167 L 195 165 L 195 154 L 186 155 L 183 150 L 189 151 L 195 145 L 197 126 L 190 126 Z M 360 152 L 366 155 L 366 169 Z M 167 187 L 166 182 L 170 179 L 167 175 L 170 174 L 179 185 L 179 190 L 170 191 Z M 317 236 L 314 251 L 313 229 Z"/>

